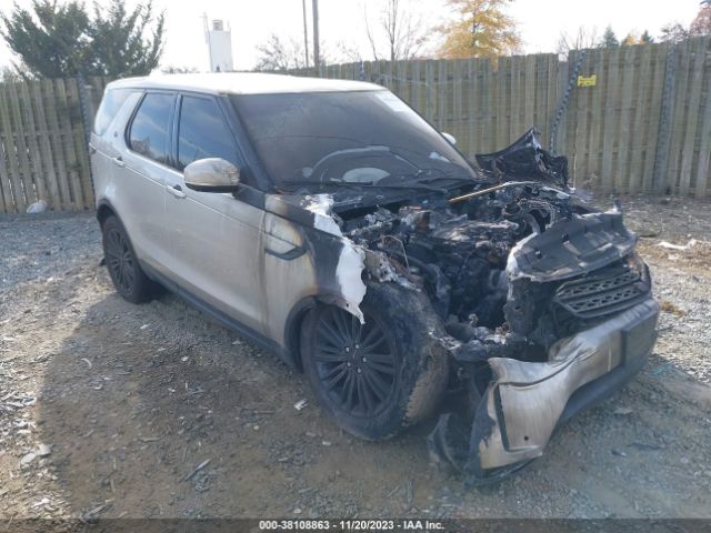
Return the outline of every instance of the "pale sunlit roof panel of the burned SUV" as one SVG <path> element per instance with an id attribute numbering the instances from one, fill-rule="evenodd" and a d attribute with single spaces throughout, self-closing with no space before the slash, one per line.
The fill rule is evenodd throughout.
<path id="1" fill-rule="evenodd" d="M 108 89 L 172 89 L 231 94 L 268 94 L 289 92 L 336 92 L 383 90 L 374 83 L 262 72 L 209 72 L 199 74 L 157 74 L 112 81 Z"/>

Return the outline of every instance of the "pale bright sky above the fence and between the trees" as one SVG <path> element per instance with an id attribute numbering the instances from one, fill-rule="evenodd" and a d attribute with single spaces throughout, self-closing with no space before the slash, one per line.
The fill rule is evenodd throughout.
<path id="1" fill-rule="evenodd" d="M 387 0 L 319 0 L 321 47 L 326 56 L 344 61 L 343 48 L 354 50 L 364 60 L 371 59 L 365 34 L 364 12 L 374 17 Z M 407 0 L 402 0 L 407 1 Z M 106 4 L 109 0 L 98 0 Z M 17 0 L 30 6 L 30 0 Z M 87 2 L 91 4 L 91 1 Z M 128 0 L 129 4 L 133 0 Z M 208 48 L 203 33 L 203 16 L 222 19 L 232 30 L 233 64 L 237 70 L 254 67 L 257 46 L 271 33 L 286 40 L 303 40 L 302 0 L 153 0 L 164 9 L 167 41 L 162 66 L 207 70 Z M 311 32 L 311 0 L 306 0 Z M 12 0 L 0 0 L 7 11 Z M 444 0 L 410 0 L 412 10 L 427 21 L 447 20 Z M 515 0 L 509 13 L 517 20 L 523 40 L 523 53 L 554 52 L 561 32 L 575 33 L 580 27 L 597 28 L 602 34 L 610 24 L 620 39 L 629 32 L 645 29 L 654 37 L 669 22 L 688 26 L 699 10 L 699 0 Z M 12 60 L 10 50 L 0 39 L 0 67 Z M 434 47 L 434 41 L 430 47 Z"/>

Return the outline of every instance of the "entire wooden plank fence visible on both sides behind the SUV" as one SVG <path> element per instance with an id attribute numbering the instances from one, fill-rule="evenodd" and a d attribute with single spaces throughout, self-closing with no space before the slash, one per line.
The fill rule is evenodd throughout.
<path id="1" fill-rule="evenodd" d="M 470 157 L 535 125 L 544 145 L 552 139 L 570 158 L 577 187 L 711 193 L 709 38 L 574 51 L 562 62 L 554 54 L 365 62 L 320 76 L 390 88 Z M 0 212 L 24 212 L 39 199 L 52 210 L 93 207 L 83 119 L 92 120 L 106 82 L 87 80 L 83 108 L 76 79 L 0 83 Z"/>

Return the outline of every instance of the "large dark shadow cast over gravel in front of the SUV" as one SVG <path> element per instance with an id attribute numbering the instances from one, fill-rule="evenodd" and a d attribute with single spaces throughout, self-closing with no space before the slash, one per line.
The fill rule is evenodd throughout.
<path id="1" fill-rule="evenodd" d="M 359 441 L 321 413 L 301 375 L 179 299 L 133 306 L 106 280 L 68 290 L 87 304 L 46 372 L 38 431 L 53 446 L 72 513 L 84 519 L 711 510 L 711 425 L 699 403 L 708 388 L 684 398 L 691 385 L 673 368 L 660 378 L 648 365 L 529 469 L 464 493 L 429 464 L 428 424 L 384 443 Z"/>

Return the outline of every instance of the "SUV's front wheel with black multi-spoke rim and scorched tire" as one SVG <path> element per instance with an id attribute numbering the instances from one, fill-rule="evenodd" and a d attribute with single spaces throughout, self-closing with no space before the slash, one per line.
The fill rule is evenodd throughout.
<path id="1" fill-rule="evenodd" d="M 310 311 L 301 329 L 301 361 L 339 426 L 382 440 L 437 408 L 448 381 L 448 353 L 429 334 L 437 319 L 422 294 L 372 283 L 360 309 L 363 325 L 333 305 Z"/>

